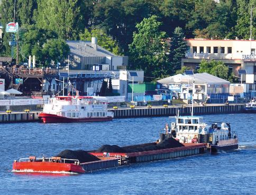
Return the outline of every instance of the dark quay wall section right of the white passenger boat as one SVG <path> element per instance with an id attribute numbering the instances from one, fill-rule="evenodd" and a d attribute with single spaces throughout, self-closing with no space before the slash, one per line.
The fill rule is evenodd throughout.
<path id="1" fill-rule="evenodd" d="M 195 106 L 194 115 L 202 114 L 227 114 L 241 113 L 244 105 L 207 105 Z M 145 116 L 175 116 L 179 111 L 179 115 L 190 115 L 191 107 L 182 108 L 180 106 L 169 106 L 168 108 L 135 108 L 135 109 L 118 109 L 112 110 L 114 118 L 130 118 Z"/>

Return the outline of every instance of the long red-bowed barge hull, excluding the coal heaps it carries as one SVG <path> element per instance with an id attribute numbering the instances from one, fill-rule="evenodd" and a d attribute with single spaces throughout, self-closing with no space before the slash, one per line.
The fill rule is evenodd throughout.
<path id="1" fill-rule="evenodd" d="M 170 142 L 178 142 L 171 139 Z M 157 143 L 147 143 L 122 147 L 123 149 L 154 147 Z M 140 152 L 89 152 L 99 160 L 81 163 L 77 159 L 63 159 L 61 157 L 29 157 L 15 160 L 13 172 L 42 172 L 42 173 L 87 173 L 107 168 L 117 168 L 131 163 L 166 160 L 188 157 L 206 151 L 204 143 L 184 143 L 181 147 Z"/>

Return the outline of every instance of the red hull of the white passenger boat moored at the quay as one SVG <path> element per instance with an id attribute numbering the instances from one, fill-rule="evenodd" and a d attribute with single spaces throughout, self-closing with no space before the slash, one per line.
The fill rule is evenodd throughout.
<path id="1" fill-rule="evenodd" d="M 112 117 L 94 117 L 94 118 L 67 118 L 56 114 L 39 113 L 38 118 L 44 123 L 70 123 L 70 122 L 97 122 L 111 121 Z"/>

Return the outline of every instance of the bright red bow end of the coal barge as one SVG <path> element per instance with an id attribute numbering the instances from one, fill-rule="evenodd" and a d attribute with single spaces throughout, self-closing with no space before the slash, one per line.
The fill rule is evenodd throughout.
<path id="1" fill-rule="evenodd" d="M 85 170 L 80 165 L 57 162 L 14 162 L 13 171 L 85 173 Z"/>

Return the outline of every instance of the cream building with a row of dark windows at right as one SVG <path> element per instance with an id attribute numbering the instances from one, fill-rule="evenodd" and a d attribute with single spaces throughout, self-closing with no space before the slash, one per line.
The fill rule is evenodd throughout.
<path id="1" fill-rule="evenodd" d="M 181 66 L 198 70 L 200 62 L 221 61 L 240 77 L 246 84 L 245 91 L 255 90 L 256 84 L 256 41 L 254 40 L 208 40 L 205 38 L 188 39 L 188 50 L 181 60 Z M 245 70 L 240 75 L 238 70 Z"/>

